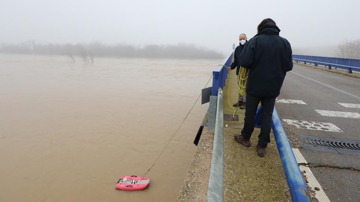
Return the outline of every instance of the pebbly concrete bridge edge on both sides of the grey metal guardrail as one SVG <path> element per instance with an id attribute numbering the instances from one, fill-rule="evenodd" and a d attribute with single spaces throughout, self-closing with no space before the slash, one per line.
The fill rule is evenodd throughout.
<path id="1" fill-rule="evenodd" d="M 228 98 L 231 105 L 237 101 L 237 86 L 236 72 L 231 71 L 224 87 L 224 114 L 233 113 Z M 251 147 L 234 140 L 243 127 L 244 113 L 239 109 L 239 121 L 224 121 L 224 126 L 228 124 L 224 128 L 224 201 L 291 201 L 274 136 L 265 157 L 256 153 L 260 129 L 255 129 Z M 177 201 L 206 201 L 212 139 L 205 126 Z"/>

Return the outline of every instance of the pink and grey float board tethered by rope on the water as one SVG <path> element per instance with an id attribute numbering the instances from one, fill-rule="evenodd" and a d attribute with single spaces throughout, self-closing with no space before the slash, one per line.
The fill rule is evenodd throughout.
<path id="1" fill-rule="evenodd" d="M 122 176 L 116 184 L 116 189 L 125 191 L 137 191 L 145 189 L 150 182 L 150 178 L 132 176 Z"/>

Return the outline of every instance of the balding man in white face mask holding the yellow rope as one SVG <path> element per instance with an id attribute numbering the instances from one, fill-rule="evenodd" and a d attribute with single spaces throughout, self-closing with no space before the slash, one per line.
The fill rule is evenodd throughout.
<path id="1" fill-rule="evenodd" d="M 245 43 L 247 42 L 247 37 L 245 34 L 241 34 L 239 36 L 239 46 L 236 47 L 234 52 L 234 61 L 231 63 L 231 65 L 228 67 L 228 70 L 235 69 L 236 67 L 236 75 L 239 75 L 240 71 L 240 55 L 244 49 Z M 246 104 L 246 95 L 242 96 L 239 94 L 239 100 L 237 103 L 234 104 L 234 107 L 239 106 L 240 109 L 245 109 Z"/>

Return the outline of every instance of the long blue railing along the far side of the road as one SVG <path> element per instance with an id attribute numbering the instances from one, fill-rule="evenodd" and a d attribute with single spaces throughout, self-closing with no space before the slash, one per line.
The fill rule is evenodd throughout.
<path id="1" fill-rule="evenodd" d="M 314 66 L 324 65 L 331 69 L 332 67 L 337 69 L 346 69 L 347 73 L 352 74 L 352 71 L 360 72 L 360 59 L 349 59 L 349 58 L 332 58 L 332 57 L 321 57 L 311 55 L 292 55 L 292 59 L 296 62 L 303 61 L 314 63 Z"/>

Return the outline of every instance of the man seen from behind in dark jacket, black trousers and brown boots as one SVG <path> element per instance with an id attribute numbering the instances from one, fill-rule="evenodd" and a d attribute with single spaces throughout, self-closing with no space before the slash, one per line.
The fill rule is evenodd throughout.
<path id="1" fill-rule="evenodd" d="M 275 99 L 279 96 L 286 72 L 292 70 L 293 63 L 290 43 L 279 36 L 280 29 L 274 20 L 262 20 L 257 32 L 246 43 L 240 55 L 240 65 L 249 69 L 247 102 L 244 128 L 241 135 L 235 134 L 234 138 L 244 146 L 251 146 L 250 137 L 254 131 L 256 110 L 261 101 L 261 130 L 256 151 L 258 156 L 265 156 L 267 143 L 270 142 Z"/>

